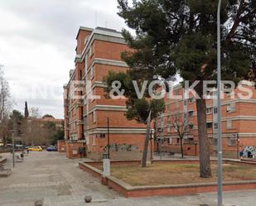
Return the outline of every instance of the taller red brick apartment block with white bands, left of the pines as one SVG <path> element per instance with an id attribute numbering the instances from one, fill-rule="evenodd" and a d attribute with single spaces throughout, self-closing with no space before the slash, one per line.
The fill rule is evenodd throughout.
<path id="1" fill-rule="evenodd" d="M 145 126 L 126 119 L 125 99 L 105 98 L 104 93 L 104 76 L 110 70 L 128 69 L 120 58 L 121 53 L 129 49 L 122 34 L 101 27 L 80 27 L 76 40 L 75 69 L 70 70 L 70 80 L 64 86 L 67 156 L 100 160 L 107 151 L 109 117 L 110 158 L 141 158 Z M 91 95 L 98 98 L 90 98 Z"/>

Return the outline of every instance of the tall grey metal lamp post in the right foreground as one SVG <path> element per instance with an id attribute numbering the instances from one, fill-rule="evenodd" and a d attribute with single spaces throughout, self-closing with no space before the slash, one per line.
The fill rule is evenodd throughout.
<path id="1" fill-rule="evenodd" d="M 218 83 L 218 206 L 223 205 L 223 185 L 222 185 L 222 136 L 221 136 L 221 60 L 220 60 L 220 7 L 221 0 L 218 3 L 217 11 L 217 83 Z"/>

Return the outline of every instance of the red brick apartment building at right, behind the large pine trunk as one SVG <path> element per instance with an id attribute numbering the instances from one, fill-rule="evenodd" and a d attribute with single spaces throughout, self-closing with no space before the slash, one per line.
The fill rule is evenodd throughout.
<path id="1" fill-rule="evenodd" d="M 248 83 L 247 83 L 248 84 Z M 245 91 L 235 89 L 234 97 L 230 93 L 224 93 L 221 100 L 222 112 L 222 132 L 223 132 L 223 153 L 225 157 L 237 158 L 239 151 L 251 150 L 255 154 L 256 147 L 256 90 L 253 86 L 245 86 L 251 89 L 253 97 L 244 99 L 239 97 L 239 93 L 246 95 Z M 183 123 L 186 117 L 188 133 L 184 137 L 184 153 L 187 156 L 198 156 L 198 131 L 196 98 L 191 93 L 188 99 L 184 99 L 184 89 L 181 85 L 174 87 L 173 93 L 181 95 L 181 99 L 168 99 L 166 101 L 166 111 L 157 118 L 157 142 L 156 151 L 180 153 L 180 139 L 171 123 Z M 217 151 L 217 102 L 212 96 L 215 91 L 209 94 L 206 99 L 206 127 L 209 137 L 210 152 L 212 156 Z M 168 94 L 167 94 L 168 96 Z M 182 118 L 174 118 L 176 115 Z M 162 143 L 161 143 L 162 142 Z M 255 154 L 256 155 L 256 154 Z"/>

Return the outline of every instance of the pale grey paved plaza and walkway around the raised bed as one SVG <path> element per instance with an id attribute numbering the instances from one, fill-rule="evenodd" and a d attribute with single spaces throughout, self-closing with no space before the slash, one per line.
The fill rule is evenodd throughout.
<path id="1" fill-rule="evenodd" d="M 12 167 L 9 154 L 7 167 Z M 82 206 L 85 195 L 92 195 L 99 206 L 206 206 L 216 205 L 216 194 L 196 194 L 179 197 L 125 199 L 113 189 L 78 168 L 78 160 L 69 160 L 57 152 L 31 152 L 16 164 L 12 175 L 0 179 L 1 206 L 32 206 L 44 199 L 45 206 Z M 256 190 L 225 193 L 225 205 L 255 205 Z"/>

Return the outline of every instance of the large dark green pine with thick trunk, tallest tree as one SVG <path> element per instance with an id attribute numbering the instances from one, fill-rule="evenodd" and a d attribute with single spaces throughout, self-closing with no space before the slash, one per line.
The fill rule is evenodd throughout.
<path id="1" fill-rule="evenodd" d="M 133 79 L 180 74 L 193 83 L 200 145 L 200 177 L 211 176 L 203 80 L 216 75 L 216 0 L 118 0 L 118 15 L 136 32 L 123 36 L 133 51 L 122 58 Z M 223 0 L 221 10 L 222 78 L 237 83 L 255 69 L 256 1 Z"/>

